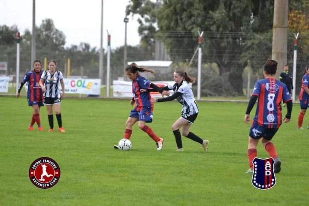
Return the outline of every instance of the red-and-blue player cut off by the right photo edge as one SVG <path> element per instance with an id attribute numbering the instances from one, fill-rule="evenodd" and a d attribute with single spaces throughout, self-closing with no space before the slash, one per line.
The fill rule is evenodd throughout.
<path id="1" fill-rule="evenodd" d="M 304 116 L 305 116 L 307 108 L 309 106 L 308 105 L 309 104 L 309 88 L 308 88 L 309 65 L 306 65 L 305 69 L 306 69 L 306 73 L 303 76 L 302 88 L 299 92 L 300 112 L 299 112 L 299 115 L 298 115 L 297 129 L 303 129 L 302 125 L 303 125 Z M 309 129 L 309 125 L 307 126 L 307 129 Z"/>

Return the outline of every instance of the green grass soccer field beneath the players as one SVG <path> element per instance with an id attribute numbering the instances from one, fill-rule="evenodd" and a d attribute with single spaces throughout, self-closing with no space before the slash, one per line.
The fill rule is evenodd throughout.
<path id="1" fill-rule="evenodd" d="M 247 104 L 198 104 L 192 132 L 210 141 L 209 151 L 186 138 L 184 151 L 175 151 L 171 125 L 181 111 L 176 102 L 156 103 L 149 124 L 164 138 L 162 151 L 137 125 L 132 149 L 120 151 L 113 145 L 123 136 L 129 100 L 64 99 L 66 133 L 49 133 L 46 108 L 41 111 L 44 131 L 28 131 L 32 108 L 26 98 L 0 97 L 0 205 L 308 205 L 309 130 L 296 130 L 299 104 L 292 121 L 273 139 L 282 170 L 276 185 L 265 191 L 253 187 L 251 175 L 244 174 Z M 305 127 L 307 123 L 305 116 Z M 49 189 L 35 187 L 28 177 L 30 164 L 44 156 L 61 169 L 60 180 Z M 261 145 L 258 156 L 268 157 Z"/>

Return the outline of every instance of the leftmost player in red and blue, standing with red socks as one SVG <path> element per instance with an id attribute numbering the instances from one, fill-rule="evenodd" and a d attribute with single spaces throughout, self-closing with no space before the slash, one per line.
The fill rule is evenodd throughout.
<path id="1" fill-rule="evenodd" d="M 26 82 L 28 82 L 28 90 L 27 90 L 28 105 L 32 106 L 33 108 L 33 114 L 28 129 L 33 130 L 33 124 L 36 122 L 36 124 L 38 125 L 38 129 L 40 131 L 43 131 L 43 127 L 41 126 L 41 120 L 40 120 L 40 107 L 44 106 L 43 103 L 44 96 L 42 89 L 39 85 L 42 75 L 40 60 L 33 61 L 33 67 L 34 69 L 28 72 L 23 78 L 23 81 L 20 83 L 18 92 L 16 94 L 16 98 L 19 98 L 20 91 L 23 88 L 23 85 Z"/>

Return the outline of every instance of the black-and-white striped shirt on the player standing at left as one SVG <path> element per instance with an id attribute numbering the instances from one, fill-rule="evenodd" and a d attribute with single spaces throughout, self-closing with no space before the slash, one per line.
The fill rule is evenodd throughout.
<path id="1" fill-rule="evenodd" d="M 60 99 L 60 80 L 63 79 L 61 71 L 55 71 L 53 74 L 46 70 L 43 72 L 42 79 L 44 79 L 44 84 L 46 92 L 45 97 L 52 97 Z"/>

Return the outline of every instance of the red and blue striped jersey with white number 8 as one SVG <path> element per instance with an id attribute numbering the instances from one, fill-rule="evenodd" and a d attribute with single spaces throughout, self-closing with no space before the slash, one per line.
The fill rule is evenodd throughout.
<path id="1" fill-rule="evenodd" d="M 259 98 L 254 120 L 261 126 L 279 128 L 281 101 L 292 100 L 287 86 L 275 78 L 261 79 L 255 83 L 252 95 Z"/>

